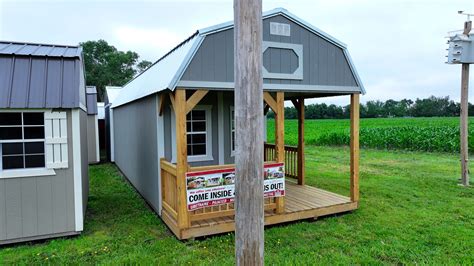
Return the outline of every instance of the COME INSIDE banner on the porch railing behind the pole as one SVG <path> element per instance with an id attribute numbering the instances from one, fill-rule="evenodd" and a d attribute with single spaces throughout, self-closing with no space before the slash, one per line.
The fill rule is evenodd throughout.
<path id="1" fill-rule="evenodd" d="M 285 196 L 285 165 L 265 164 L 264 197 Z M 188 210 L 234 202 L 235 168 L 186 173 Z"/>

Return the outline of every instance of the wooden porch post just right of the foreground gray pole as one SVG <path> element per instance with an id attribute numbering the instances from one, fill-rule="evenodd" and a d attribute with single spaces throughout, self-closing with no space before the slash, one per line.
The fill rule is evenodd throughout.
<path id="1" fill-rule="evenodd" d="M 284 92 L 276 93 L 275 110 L 275 159 L 279 163 L 285 162 L 285 95 Z M 285 198 L 278 197 L 275 200 L 276 212 L 285 212 Z"/>

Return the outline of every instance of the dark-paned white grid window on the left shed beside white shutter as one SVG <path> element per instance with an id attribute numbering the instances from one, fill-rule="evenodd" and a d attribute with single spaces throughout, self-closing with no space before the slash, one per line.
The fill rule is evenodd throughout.
<path id="1" fill-rule="evenodd" d="M 2 171 L 44 168 L 44 113 L 1 113 L 0 156 Z"/>

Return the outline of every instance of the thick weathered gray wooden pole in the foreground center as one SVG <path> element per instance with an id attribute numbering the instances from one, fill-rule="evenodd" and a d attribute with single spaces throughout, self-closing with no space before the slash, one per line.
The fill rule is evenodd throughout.
<path id="1" fill-rule="evenodd" d="M 234 0 L 235 256 L 263 265 L 262 0 Z"/>

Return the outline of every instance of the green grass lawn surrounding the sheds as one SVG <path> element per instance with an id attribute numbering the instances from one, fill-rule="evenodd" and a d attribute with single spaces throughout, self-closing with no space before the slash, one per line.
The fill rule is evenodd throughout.
<path id="1" fill-rule="evenodd" d="M 307 182 L 348 195 L 349 150 L 306 149 Z M 268 264 L 474 263 L 474 188 L 456 155 L 361 150 L 360 209 L 265 230 Z M 0 264 L 234 263 L 234 235 L 181 242 L 111 164 L 90 168 L 81 236 L 0 248 Z"/>

